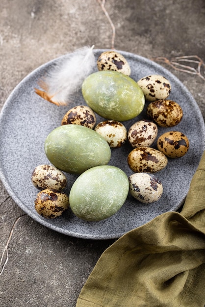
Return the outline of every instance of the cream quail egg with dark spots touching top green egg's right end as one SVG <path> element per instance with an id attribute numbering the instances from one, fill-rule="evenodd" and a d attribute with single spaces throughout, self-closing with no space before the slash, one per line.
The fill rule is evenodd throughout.
<path id="1" fill-rule="evenodd" d="M 166 99 L 171 92 L 169 80 L 160 75 L 150 75 L 137 81 L 148 101 Z"/>

